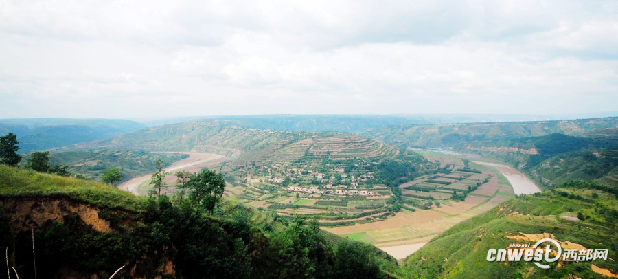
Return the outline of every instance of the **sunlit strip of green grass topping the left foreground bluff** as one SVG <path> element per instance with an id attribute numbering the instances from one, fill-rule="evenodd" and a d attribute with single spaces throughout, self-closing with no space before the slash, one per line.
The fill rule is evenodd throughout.
<path id="1" fill-rule="evenodd" d="M 104 208 L 142 210 L 144 198 L 94 181 L 0 165 L 0 197 L 64 197 Z"/>

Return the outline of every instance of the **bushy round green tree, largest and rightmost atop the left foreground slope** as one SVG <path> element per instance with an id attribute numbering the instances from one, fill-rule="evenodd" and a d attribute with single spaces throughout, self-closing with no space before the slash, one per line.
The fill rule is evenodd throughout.
<path id="1" fill-rule="evenodd" d="M 202 170 L 191 175 L 189 188 L 192 189 L 190 199 L 198 204 L 202 204 L 205 209 L 212 214 L 214 208 L 223 196 L 225 181 L 223 175 L 211 170 Z"/>

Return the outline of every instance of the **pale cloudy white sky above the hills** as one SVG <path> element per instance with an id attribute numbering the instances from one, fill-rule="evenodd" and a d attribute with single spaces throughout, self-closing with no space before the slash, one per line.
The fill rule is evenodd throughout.
<path id="1" fill-rule="evenodd" d="M 0 118 L 606 111 L 618 1 L 0 0 Z"/>

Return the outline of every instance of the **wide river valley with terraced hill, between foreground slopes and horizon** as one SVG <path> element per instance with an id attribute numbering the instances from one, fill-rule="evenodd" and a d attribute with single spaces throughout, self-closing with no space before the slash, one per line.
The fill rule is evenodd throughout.
<path id="1" fill-rule="evenodd" d="M 172 203 L 179 203 L 176 172 L 214 170 L 225 181 L 226 202 L 260 212 L 260 220 L 275 221 L 264 230 L 277 222 L 293 224 L 298 217 L 314 220 L 330 238 L 372 245 L 399 260 L 400 268 L 389 269 L 402 278 L 439 266 L 408 269 L 411 258 L 419 253 L 427 258 L 427 251 L 444 249 L 442 239 L 453 230 L 486 220 L 514 198 L 545 197 L 548 191 L 553 197 L 556 184 L 581 177 L 611 186 L 616 177 L 615 128 L 603 128 L 617 125 L 614 118 L 428 124 L 402 127 L 389 135 L 376 134 L 386 133 L 383 127 L 351 134 L 258 129 L 246 123 L 218 119 L 166 124 L 65 146 L 53 150 L 51 159 L 95 180 L 102 170 L 119 167 L 124 177 L 117 188 L 138 197 L 152 197 L 150 180 L 160 159 L 170 173 L 161 180 L 161 194 Z M 25 154 L 25 160 L 30 156 Z M 569 199 L 594 199 L 587 192 L 560 191 Z M 571 209 L 560 212 L 558 221 L 591 218 L 590 225 L 604 220 L 595 219 L 599 212 Z M 528 223 L 538 225 L 534 222 Z M 595 265 L 595 270 L 602 266 L 608 267 Z"/>

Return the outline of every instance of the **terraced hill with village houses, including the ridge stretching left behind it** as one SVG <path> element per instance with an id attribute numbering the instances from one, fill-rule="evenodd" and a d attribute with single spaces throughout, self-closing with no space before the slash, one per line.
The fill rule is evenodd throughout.
<path id="1" fill-rule="evenodd" d="M 358 135 L 246 129 L 237 124 L 169 124 L 92 144 L 225 155 L 231 160 L 211 169 L 226 174 L 230 197 L 288 218 L 311 216 L 320 225 L 380 221 L 400 209 L 399 183 L 437 170 L 412 150 Z"/>

